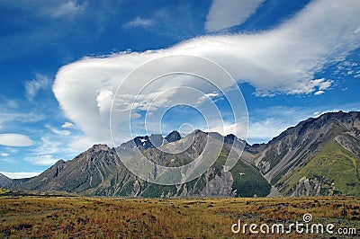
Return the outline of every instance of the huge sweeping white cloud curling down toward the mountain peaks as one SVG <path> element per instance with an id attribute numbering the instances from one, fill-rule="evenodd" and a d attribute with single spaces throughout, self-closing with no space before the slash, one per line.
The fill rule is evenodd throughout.
<path id="1" fill-rule="evenodd" d="M 360 46 L 360 31 L 356 31 L 360 22 L 359 12 L 358 1 L 316 1 L 270 31 L 250 35 L 204 36 L 169 49 L 84 58 L 59 69 L 53 92 L 67 118 L 85 133 L 84 137 L 76 139 L 73 146 L 89 146 L 110 142 L 109 119 L 106 116 L 110 110 L 110 89 L 117 89 L 121 80 L 136 67 L 157 58 L 174 55 L 209 58 L 223 66 L 239 82 L 255 86 L 257 95 L 309 94 L 329 90 L 335 80 L 316 79 L 314 75 L 328 64 L 344 59 Z M 192 64 L 166 62 L 161 68 L 171 70 L 176 69 L 175 66 L 188 66 L 196 71 L 196 66 Z M 209 75 L 216 75 L 211 67 L 206 70 Z M 130 108 L 138 93 L 134 89 L 148 84 L 146 76 L 131 81 L 127 93 L 119 98 L 122 102 L 117 102 L 117 107 Z M 222 88 L 231 86 L 220 79 L 215 81 Z M 165 89 L 180 86 L 179 82 L 197 86 L 203 89 L 203 93 L 213 92 L 199 80 L 167 79 L 141 93 L 136 108 L 147 110 L 148 104 L 158 95 L 163 96 L 162 101 L 157 101 L 152 111 L 169 106 L 175 97 L 182 97 L 184 102 L 197 102 L 198 98 L 193 99 L 194 94 L 164 94 Z M 255 132 L 254 137 L 263 137 L 261 132 Z"/>

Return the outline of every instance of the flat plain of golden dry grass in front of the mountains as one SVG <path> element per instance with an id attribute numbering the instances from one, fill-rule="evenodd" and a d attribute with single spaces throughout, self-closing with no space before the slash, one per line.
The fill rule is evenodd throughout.
<path id="1" fill-rule="evenodd" d="M 356 227 L 360 199 L 121 199 L 46 196 L 0 197 L 0 238 L 229 238 L 240 218 L 248 224 L 302 221 Z M 311 235 L 261 237 L 312 238 Z M 329 235 L 327 235 L 329 236 Z M 258 235 L 246 237 L 257 238 Z M 320 235 L 314 236 L 319 238 Z M 349 238 L 353 238 L 354 235 Z"/>

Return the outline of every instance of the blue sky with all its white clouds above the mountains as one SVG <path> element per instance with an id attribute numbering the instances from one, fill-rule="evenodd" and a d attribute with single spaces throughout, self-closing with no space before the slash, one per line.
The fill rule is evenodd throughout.
<path id="1" fill-rule="evenodd" d="M 335 0 L 0 0 L 0 172 L 34 175 L 94 143 L 111 145 L 110 107 L 121 79 L 173 55 L 210 59 L 232 75 L 248 113 L 248 132 L 239 137 L 251 144 L 322 112 L 359 111 L 359 12 L 358 1 Z M 215 102 L 223 124 L 206 128 L 215 118 L 203 119 L 201 103 L 168 109 L 169 99 L 190 101 L 178 91 L 163 94 L 156 110 L 134 111 L 135 131 L 144 132 L 145 115 L 167 109 L 163 134 L 186 123 L 233 132 L 226 97 L 196 87 Z M 153 99 L 153 88 L 140 100 Z M 151 125 L 148 133 L 157 132 Z"/>

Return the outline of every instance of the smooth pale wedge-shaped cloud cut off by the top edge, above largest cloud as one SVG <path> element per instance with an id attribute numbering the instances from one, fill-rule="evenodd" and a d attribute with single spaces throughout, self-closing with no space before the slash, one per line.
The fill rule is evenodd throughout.
<path id="1" fill-rule="evenodd" d="M 206 16 L 206 31 L 222 31 L 245 22 L 264 0 L 213 0 Z"/>

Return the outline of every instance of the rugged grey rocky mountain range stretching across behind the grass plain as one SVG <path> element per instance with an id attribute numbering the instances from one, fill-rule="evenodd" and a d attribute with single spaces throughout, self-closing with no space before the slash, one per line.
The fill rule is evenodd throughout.
<path id="1" fill-rule="evenodd" d="M 212 145 L 206 149 L 209 138 Z M 220 154 L 210 168 L 194 179 L 196 168 L 181 172 L 176 177 L 185 182 L 176 185 L 149 182 L 166 179 L 166 172 L 147 170 L 144 180 L 123 163 L 146 155 L 153 163 L 174 167 L 189 164 L 217 146 Z M 228 157 L 238 160 L 229 171 Z M 198 129 L 187 136 L 173 131 L 166 137 L 135 137 L 112 148 L 94 145 L 30 179 L 10 180 L 0 174 L 0 187 L 116 197 L 360 196 L 359 167 L 360 112 L 338 111 L 303 120 L 267 144 L 253 146 L 234 135 Z"/>

